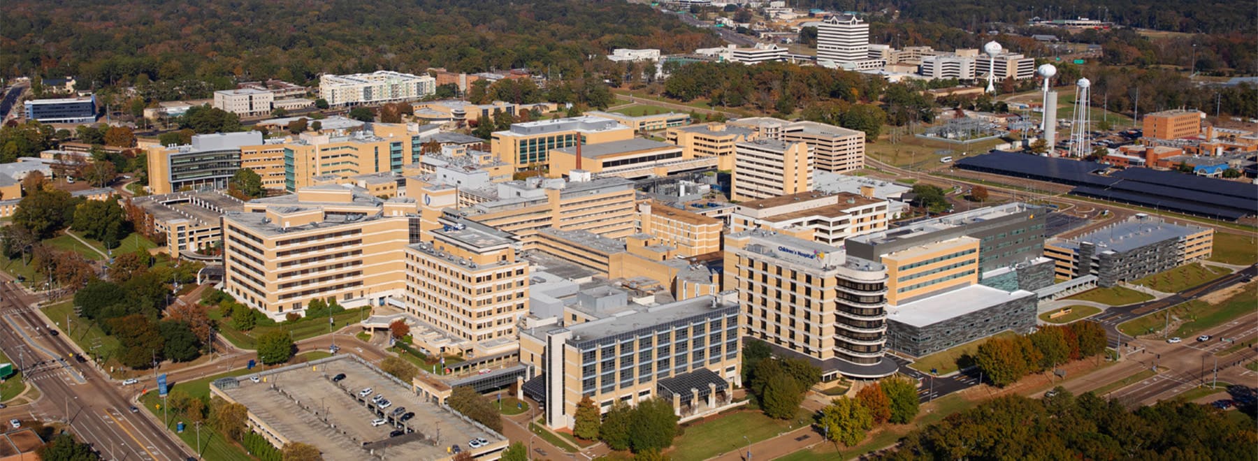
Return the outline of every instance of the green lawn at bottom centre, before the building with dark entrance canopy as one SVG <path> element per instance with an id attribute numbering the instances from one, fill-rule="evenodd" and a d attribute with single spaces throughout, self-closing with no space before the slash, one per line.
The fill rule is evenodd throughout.
<path id="1" fill-rule="evenodd" d="M 673 460 L 707 460 L 720 453 L 736 452 L 751 443 L 777 436 L 781 432 L 813 423 L 813 412 L 800 408 L 791 420 L 774 420 L 754 409 L 738 409 L 717 416 L 711 421 L 686 427 L 686 433 L 673 441 L 668 456 Z"/>

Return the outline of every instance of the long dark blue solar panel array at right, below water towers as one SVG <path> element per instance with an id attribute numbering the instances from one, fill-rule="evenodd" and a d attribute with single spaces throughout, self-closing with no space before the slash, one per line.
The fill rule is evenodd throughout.
<path id="1" fill-rule="evenodd" d="M 1076 186 L 1071 193 L 1206 217 L 1237 220 L 1258 214 L 1258 186 L 1149 168 L 1111 176 L 1096 162 L 1000 152 L 967 157 L 962 170 L 1025 177 Z"/>

